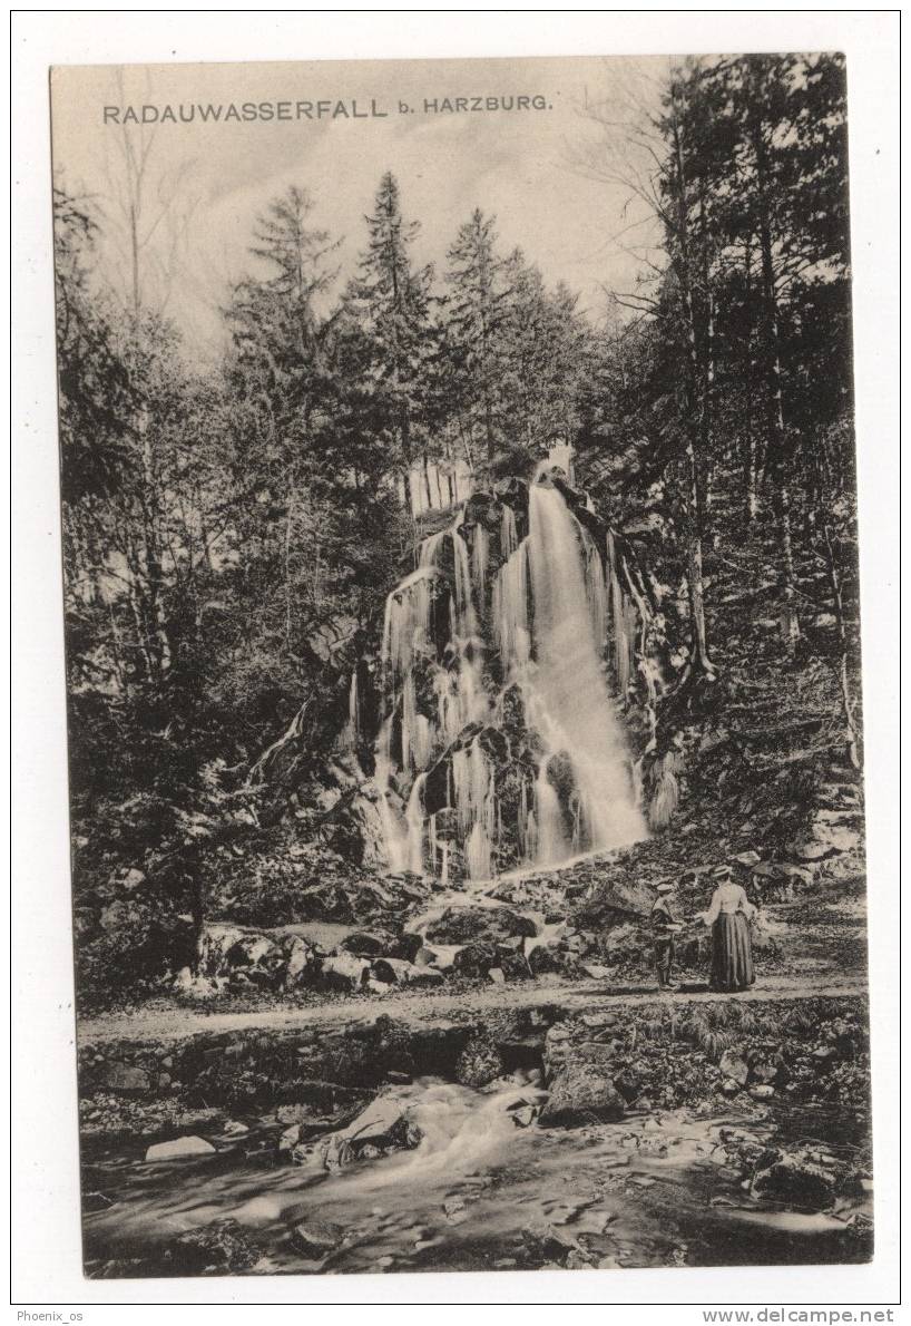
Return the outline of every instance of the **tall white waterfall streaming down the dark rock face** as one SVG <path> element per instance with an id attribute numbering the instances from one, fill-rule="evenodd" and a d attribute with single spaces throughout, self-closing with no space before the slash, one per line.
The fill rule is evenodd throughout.
<path id="1" fill-rule="evenodd" d="M 646 835 L 603 674 L 618 609 L 629 656 L 611 558 L 546 476 L 526 509 L 476 495 L 423 541 L 383 629 L 393 870 L 488 879 Z"/>

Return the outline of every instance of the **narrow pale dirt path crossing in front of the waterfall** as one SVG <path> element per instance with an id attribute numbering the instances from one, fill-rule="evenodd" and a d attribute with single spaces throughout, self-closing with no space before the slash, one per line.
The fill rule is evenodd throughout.
<path id="1" fill-rule="evenodd" d="M 727 998 L 766 1002 L 769 1000 L 817 998 L 818 996 L 862 996 L 866 994 L 866 979 L 861 973 L 829 973 L 806 977 L 768 977 L 760 985 Z M 452 1013 L 473 1012 L 492 1008 L 526 1008 L 536 1004 L 558 1004 L 565 1009 L 599 1009 L 610 1005 L 637 1005 L 654 1002 L 658 998 L 654 987 L 614 987 L 602 981 L 576 983 L 525 983 L 512 987 L 492 987 L 489 989 L 461 991 L 452 994 L 431 994 L 427 992 L 402 992 L 385 994 L 379 998 L 334 998 L 325 1004 L 309 1004 L 302 1008 L 267 1008 L 255 1012 L 227 1013 L 204 1012 L 192 1008 L 147 1009 L 135 1013 L 107 1013 L 101 1017 L 85 1018 L 78 1025 L 78 1040 L 82 1044 L 98 1041 L 164 1041 L 183 1040 L 200 1033 L 219 1034 L 221 1032 L 244 1032 L 260 1028 L 263 1030 L 289 1030 L 313 1024 L 342 1021 L 373 1021 L 382 1013 L 391 1017 L 414 1021 L 439 1020 Z M 719 996 L 704 987 L 683 987 L 674 994 L 663 996 L 680 1001 L 709 1001 Z"/>

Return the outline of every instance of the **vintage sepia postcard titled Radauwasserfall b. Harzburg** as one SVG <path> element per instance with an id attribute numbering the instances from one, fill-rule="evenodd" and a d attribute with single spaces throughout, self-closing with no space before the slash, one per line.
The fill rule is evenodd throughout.
<path id="1" fill-rule="evenodd" d="M 867 1261 L 842 56 L 52 121 L 86 1276 Z"/>

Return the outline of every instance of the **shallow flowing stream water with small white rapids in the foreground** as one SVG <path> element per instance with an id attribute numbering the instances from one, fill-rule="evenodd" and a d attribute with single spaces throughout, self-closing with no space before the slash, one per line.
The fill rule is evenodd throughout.
<path id="1" fill-rule="evenodd" d="M 86 1163 L 85 1257 L 90 1276 L 180 1272 L 167 1246 L 236 1221 L 253 1274 L 489 1270 L 538 1266 L 700 1266 L 863 1261 L 862 1204 L 788 1209 L 751 1196 L 731 1147 L 773 1139 L 820 1143 L 846 1159 L 854 1124 L 806 1109 L 789 1116 L 631 1110 L 614 1124 L 516 1126 L 534 1086 L 500 1081 L 475 1091 L 439 1078 L 393 1089 L 411 1109 L 415 1150 L 333 1172 L 318 1148 L 304 1164 L 276 1159 L 274 1119 L 241 1139 L 210 1134 L 203 1159 L 146 1163 L 125 1144 Z M 257 1151 L 271 1123 L 271 1146 Z M 257 1134 L 259 1128 L 259 1134 Z M 838 1139 L 837 1142 L 833 1139 Z M 85 1158 L 89 1162 L 89 1158 Z M 853 1219 L 851 1219 L 853 1217 Z M 310 1231 L 309 1242 L 296 1229 Z M 313 1246 L 312 1232 L 317 1244 Z M 231 1266 L 206 1268 L 229 1273 Z"/>

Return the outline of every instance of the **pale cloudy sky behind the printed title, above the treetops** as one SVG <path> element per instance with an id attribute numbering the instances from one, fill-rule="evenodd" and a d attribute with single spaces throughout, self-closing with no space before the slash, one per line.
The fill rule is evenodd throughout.
<path id="1" fill-rule="evenodd" d="M 200 357 L 217 347 L 217 310 L 231 282 L 256 267 L 248 247 L 268 200 L 290 184 L 308 190 L 312 223 L 341 240 L 343 281 L 365 245 L 363 217 L 386 170 L 399 180 L 406 219 L 420 221 L 418 261 L 442 272 L 459 225 L 480 207 L 496 213 L 504 252 L 520 247 L 548 284 L 565 281 L 597 318 L 605 289 L 633 288 L 640 245 L 654 243 L 655 231 L 643 204 L 614 178 L 625 172 L 622 131 L 605 130 L 586 107 L 598 106 L 611 123 L 633 118 L 638 105 L 654 105 L 666 68 L 666 58 L 587 57 L 58 66 L 54 171 L 106 217 L 101 267 L 126 289 L 127 158 L 134 172 L 145 163 L 143 293 Z M 488 106 L 488 98 L 520 95 L 544 109 Z M 481 109 L 459 111 L 456 98 L 468 107 L 481 98 Z M 321 101 L 329 114 L 317 118 Z M 434 101 L 436 111 L 426 105 Z M 240 114 L 244 103 L 261 102 L 288 102 L 292 118 L 224 118 L 232 103 Z M 313 118 L 298 118 L 298 102 L 310 103 Z M 191 123 L 123 123 L 127 106 L 138 117 L 154 107 L 149 119 L 171 106 L 179 121 L 179 107 L 188 115 L 200 105 L 220 105 L 223 118 L 203 122 L 196 110 Z M 374 106 L 386 114 L 374 115 Z"/>

